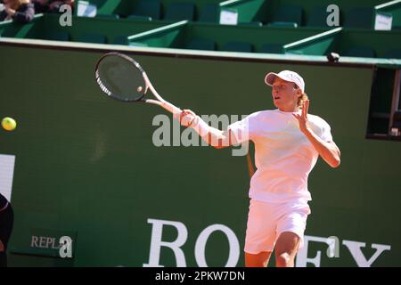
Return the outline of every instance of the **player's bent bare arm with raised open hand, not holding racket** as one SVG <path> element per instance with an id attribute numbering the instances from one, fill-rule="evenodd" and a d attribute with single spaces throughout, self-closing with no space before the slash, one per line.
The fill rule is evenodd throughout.
<path id="1" fill-rule="evenodd" d="M 312 129 L 307 126 L 307 109 L 309 101 L 304 102 L 301 115 L 293 114 L 299 120 L 300 131 L 307 136 L 309 142 L 315 147 L 322 159 L 333 168 L 340 166 L 340 149 L 335 142 L 324 142 Z"/>

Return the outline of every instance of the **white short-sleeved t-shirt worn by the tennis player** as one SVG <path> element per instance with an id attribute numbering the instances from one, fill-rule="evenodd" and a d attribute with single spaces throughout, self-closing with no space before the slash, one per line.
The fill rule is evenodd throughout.
<path id="1" fill-rule="evenodd" d="M 319 153 L 299 129 L 299 121 L 282 110 L 262 110 L 228 126 L 236 142 L 255 143 L 258 170 L 250 180 L 250 198 L 282 203 L 311 200 L 307 176 Z M 308 126 L 324 142 L 331 142 L 331 127 L 323 118 L 307 114 Z M 247 135 L 248 134 L 248 135 Z"/>

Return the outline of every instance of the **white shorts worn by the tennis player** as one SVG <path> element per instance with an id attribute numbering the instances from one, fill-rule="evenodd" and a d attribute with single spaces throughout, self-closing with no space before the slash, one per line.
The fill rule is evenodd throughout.
<path id="1" fill-rule="evenodd" d="M 282 232 L 297 234 L 299 248 L 302 248 L 309 214 L 307 202 L 277 204 L 250 199 L 244 251 L 255 255 L 262 251 L 272 252 Z"/>

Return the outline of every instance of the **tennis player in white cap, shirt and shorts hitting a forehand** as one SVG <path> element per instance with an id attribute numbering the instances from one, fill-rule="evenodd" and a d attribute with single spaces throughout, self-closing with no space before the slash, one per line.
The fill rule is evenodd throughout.
<path id="1" fill-rule="evenodd" d="M 258 169 L 250 180 L 245 265 L 267 266 L 274 251 L 276 266 L 291 267 L 303 247 L 310 214 L 307 177 L 319 155 L 331 167 L 339 167 L 340 150 L 331 126 L 307 113 L 305 82 L 298 73 L 270 72 L 265 82 L 273 86 L 275 110 L 252 113 L 225 131 L 209 126 L 192 110 L 183 110 L 180 122 L 217 149 L 248 140 L 255 143 Z"/>

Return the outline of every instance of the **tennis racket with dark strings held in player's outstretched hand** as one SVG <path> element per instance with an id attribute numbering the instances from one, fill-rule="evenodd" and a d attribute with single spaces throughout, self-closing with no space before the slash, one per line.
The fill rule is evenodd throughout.
<path id="1" fill-rule="evenodd" d="M 176 116 L 182 112 L 158 94 L 141 65 L 126 54 L 113 52 L 102 55 L 96 64 L 95 77 L 102 92 L 110 98 L 159 105 Z M 156 100 L 145 98 L 149 90 Z"/>

